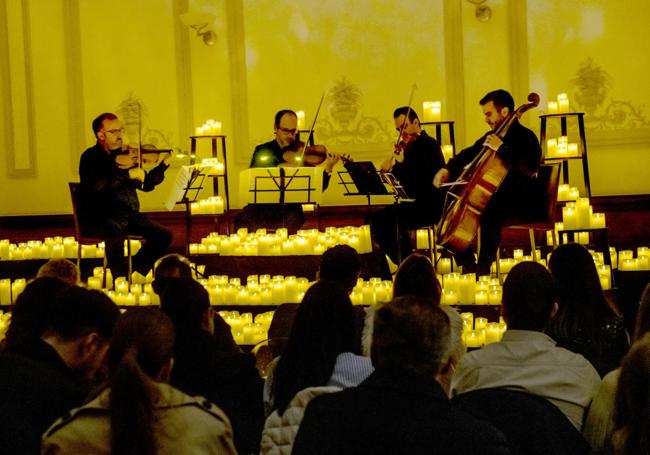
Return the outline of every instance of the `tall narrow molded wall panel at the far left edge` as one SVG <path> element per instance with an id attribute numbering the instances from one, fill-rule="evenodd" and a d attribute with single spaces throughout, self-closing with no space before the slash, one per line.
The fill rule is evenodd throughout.
<path id="1" fill-rule="evenodd" d="M 12 177 L 33 177 L 36 175 L 36 129 L 29 1 L 0 0 L 0 9 L 0 49 L 6 56 L 0 71 L 7 173 Z"/>

